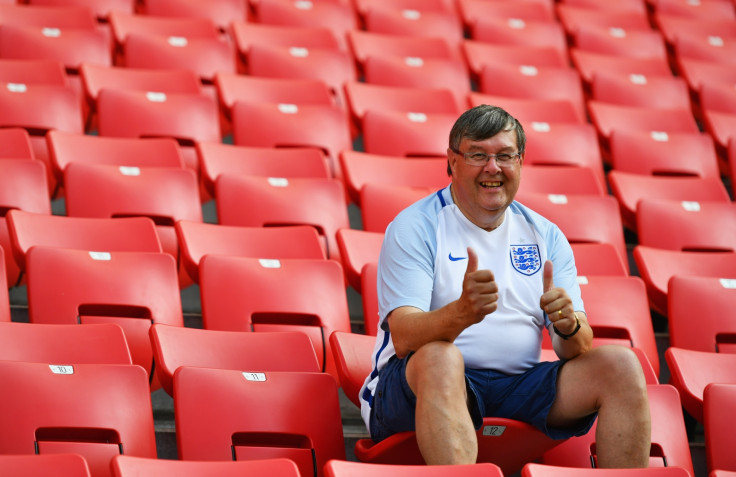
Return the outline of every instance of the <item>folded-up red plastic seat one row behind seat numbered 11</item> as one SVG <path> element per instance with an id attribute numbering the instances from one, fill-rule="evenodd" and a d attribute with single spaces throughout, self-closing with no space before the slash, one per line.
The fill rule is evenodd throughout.
<path id="1" fill-rule="evenodd" d="M 334 260 L 206 255 L 199 285 L 205 329 L 301 331 L 310 336 L 320 369 L 335 374 L 329 336 L 350 331 L 350 316 L 342 267 Z"/>

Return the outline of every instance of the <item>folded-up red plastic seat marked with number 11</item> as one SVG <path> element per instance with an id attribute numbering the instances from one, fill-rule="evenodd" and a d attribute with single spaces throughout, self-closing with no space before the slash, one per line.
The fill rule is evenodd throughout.
<path id="1" fill-rule="evenodd" d="M 345 460 L 332 376 L 183 367 L 174 395 L 181 460 L 286 457 L 310 477 L 324 475 L 330 459 Z"/>

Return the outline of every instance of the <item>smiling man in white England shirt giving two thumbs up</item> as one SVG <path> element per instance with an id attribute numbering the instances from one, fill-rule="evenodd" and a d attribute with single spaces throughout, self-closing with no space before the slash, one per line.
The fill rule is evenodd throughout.
<path id="1" fill-rule="evenodd" d="M 625 347 L 592 349 L 569 243 L 514 202 L 525 141 L 503 109 L 466 111 L 450 132 L 451 185 L 387 228 L 363 419 L 374 440 L 415 430 L 427 464 L 463 464 L 476 461 L 485 416 L 555 439 L 585 434 L 597 417 L 598 464 L 646 467 L 641 365 Z M 539 362 L 542 332 L 559 361 Z"/>

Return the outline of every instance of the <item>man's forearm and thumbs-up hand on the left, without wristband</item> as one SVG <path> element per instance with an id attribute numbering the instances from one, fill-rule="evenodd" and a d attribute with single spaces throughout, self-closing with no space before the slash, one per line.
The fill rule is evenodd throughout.
<path id="1" fill-rule="evenodd" d="M 478 255 L 468 247 L 468 267 L 460 298 L 442 308 L 422 311 L 402 306 L 388 316 L 396 355 L 403 358 L 432 341 L 455 341 L 468 326 L 478 323 L 498 304 L 498 286 L 490 270 L 478 270 Z"/>

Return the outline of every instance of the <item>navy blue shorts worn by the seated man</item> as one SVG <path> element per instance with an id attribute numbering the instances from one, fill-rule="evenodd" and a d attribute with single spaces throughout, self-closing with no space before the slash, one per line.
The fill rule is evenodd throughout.
<path id="1" fill-rule="evenodd" d="M 371 438 L 376 442 L 414 430 L 416 396 L 406 381 L 410 358 L 394 356 L 379 372 L 370 417 Z M 557 394 L 557 372 L 563 365 L 563 361 L 544 361 L 516 375 L 465 368 L 468 408 L 475 428 L 481 428 L 484 417 L 503 417 L 529 423 L 553 439 L 586 434 L 596 414 L 571 428 L 547 426 L 547 414 Z"/>

